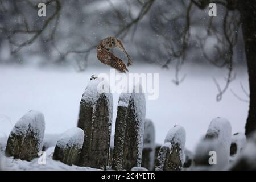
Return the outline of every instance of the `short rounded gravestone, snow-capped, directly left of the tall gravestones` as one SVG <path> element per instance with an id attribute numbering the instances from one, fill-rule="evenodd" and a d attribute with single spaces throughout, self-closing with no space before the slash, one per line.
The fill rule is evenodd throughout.
<path id="1" fill-rule="evenodd" d="M 84 130 L 75 127 L 65 131 L 57 141 L 52 159 L 60 160 L 70 166 L 72 164 L 77 164 L 79 162 L 83 143 Z"/>

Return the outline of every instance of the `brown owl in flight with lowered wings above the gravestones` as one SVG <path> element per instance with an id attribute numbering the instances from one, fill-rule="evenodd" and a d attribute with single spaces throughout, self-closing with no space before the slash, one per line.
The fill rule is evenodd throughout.
<path id="1" fill-rule="evenodd" d="M 115 68 L 122 73 L 125 73 L 126 71 L 128 71 L 128 69 L 126 68 L 126 65 L 123 63 L 123 61 L 119 57 L 115 56 L 113 53 L 109 52 L 109 49 L 114 47 L 118 47 L 125 53 L 128 59 L 127 66 L 133 63 L 133 61 L 131 61 L 130 55 L 125 51 L 121 40 L 113 38 L 111 36 L 102 39 L 100 44 L 98 44 L 96 48 L 97 58 L 101 61 L 101 63 L 110 65 L 110 67 Z"/>

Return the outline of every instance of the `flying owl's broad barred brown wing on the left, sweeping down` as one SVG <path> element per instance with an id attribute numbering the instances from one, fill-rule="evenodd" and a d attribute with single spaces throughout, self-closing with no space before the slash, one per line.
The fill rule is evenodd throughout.
<path id="1" fill-rule="evenodd" d="M 106 49 L 97 49 L 97 58 L 101 63 L 110 65 L 110 67 L 115 68 L 120 72 L 125 73 L 128 71 L 123 61 Z"/>

